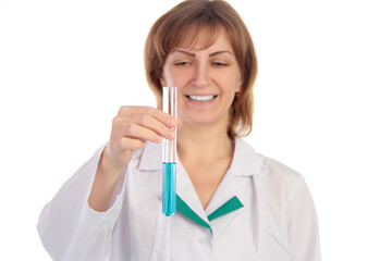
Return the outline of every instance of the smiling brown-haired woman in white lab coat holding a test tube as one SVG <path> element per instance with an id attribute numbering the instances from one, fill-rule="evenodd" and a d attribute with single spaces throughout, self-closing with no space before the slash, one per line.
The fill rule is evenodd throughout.
<path id="1" fill-rule="evenodd" d="M 256 153 L 257 62 L 252 38 L 224 1 L 188 0 L 146 41 L 158 108 L 177 86 L 175 122 L 122 107 L 109 142 L 60 189 L 38 231 L 54 260 L 320 260 L 315 207 L 303 177 Z M 161 213 L 162 138 L 177 132 L 177 212 Z"/>

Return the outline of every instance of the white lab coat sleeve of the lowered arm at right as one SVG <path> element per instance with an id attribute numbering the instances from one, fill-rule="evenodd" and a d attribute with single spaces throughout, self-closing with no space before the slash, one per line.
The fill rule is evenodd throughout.
<path id="1" fill-rule="evenodd" d="M 321 261 L 319 227 L 310 191 L 302 176 L 286 201 L 291 261 Z"/>

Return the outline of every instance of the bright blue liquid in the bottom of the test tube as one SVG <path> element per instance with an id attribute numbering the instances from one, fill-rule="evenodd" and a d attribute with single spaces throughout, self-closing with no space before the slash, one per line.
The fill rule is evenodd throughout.
<path id="1" fill-rule="evenodd" d="M 175 213 L 175 188 L 176 188 L 176 164 L 175 162 L 163 162 L 162 164 L 162 213 L 173 215 Z"/>

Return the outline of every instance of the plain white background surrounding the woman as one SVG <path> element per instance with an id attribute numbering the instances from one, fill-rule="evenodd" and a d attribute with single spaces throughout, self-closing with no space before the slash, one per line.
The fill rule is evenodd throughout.
<path id="1" fill-rule="evenodd" d="M 0 260 L 50 260 L 39 212 L 120 105 L 155 105 L 143 46 L 177 2 L 0 0 Z M 229 2 L 259 60 L 246 140 L 304 175 L 323 260 L 392 260 L 390 1 Z"/>

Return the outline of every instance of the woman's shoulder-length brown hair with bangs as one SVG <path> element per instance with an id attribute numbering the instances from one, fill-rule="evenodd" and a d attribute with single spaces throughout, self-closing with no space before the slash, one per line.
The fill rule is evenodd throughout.
<path id="1" fill-rule="evenodd" d="M 193 29 L 195 28 L 195 29 Z M 147 80 L 161 109 L 163 65 L 169 53 L 184 39 L 194 34 L 196 41 L 201 29 L 211 32 L 207 47 L 217 39 L 223 28 L 232 44 L 240 65 L 242 86 L 230 111 L 228 135 L 247 136 L 252 132 L 257 59 L 249 32 L 237 12 L 223 0 L 187 0 L 163 14 L 152 25 L 145 45 L 145 70 Z M 196 42 L 193 42 L 196 44 Z M 206 48 L 207 48 L 206 47 Z"/>

